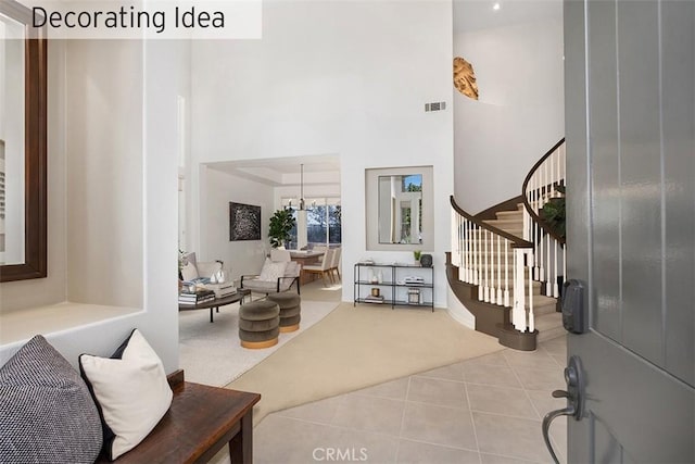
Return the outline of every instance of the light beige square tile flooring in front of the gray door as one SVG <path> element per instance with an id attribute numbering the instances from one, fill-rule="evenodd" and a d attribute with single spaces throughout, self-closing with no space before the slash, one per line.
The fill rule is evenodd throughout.
<path id="1" fill-rule="evenodd" d="M 565 407 L 566 338 L 534 352 L 504 350 L 269 414 L 254 429 L 254 462 L 552 462 L 545 413 Z M 567 422 L 551 439 L 565 461 Z"/>

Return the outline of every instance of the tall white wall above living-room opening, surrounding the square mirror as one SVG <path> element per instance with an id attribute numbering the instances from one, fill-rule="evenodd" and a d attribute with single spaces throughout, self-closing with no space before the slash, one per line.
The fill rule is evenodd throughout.
<path id="1" fill-rule="evenodd" d="M 338 153 L 344 271 L 367 254 L 365 168 L 432 164 L 442 206 L 434 250 L 425 251 L 443 269 L 452 112 L 424 106 L 452 101 L 450 1 L 264 2 L 263 40 L 192 47 L 195 162 Z M 352 272 L 343 276 L 343 299 L 351 301 Z M 445 305 L 443 272 L 437 277 L 437 303 Z"/>

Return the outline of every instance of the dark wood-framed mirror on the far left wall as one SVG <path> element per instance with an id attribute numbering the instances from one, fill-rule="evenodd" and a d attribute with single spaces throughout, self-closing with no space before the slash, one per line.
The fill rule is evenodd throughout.
<path id="1" fill-rule="evenodd" d="M 33 28 L 31 11 L 13 0 L 0 2 L 0 22 L 2 22 L 2 85 L 22 83 L 12 79 L 12 70 L 24 68 L 24 106 L 12 105 L 11 97 L 15 91 L 1 95 L 3 121 L 17 114 L 24 114 L 24 121 L 15 122 L 20 130 L 0 127 L 3 140 L 4 158 L 2 162 L 2 256 L 0 262 L 0 283 L 46 277 L 47 259 L 47 40 L 41 32 Z M 18 30 L 20 36 L 16 35 Z M 12 52 L 15 47 L 18 53 Z M 7 53 L 5 53 L 7 52 Z M 22 61 L 24 61 L 22 66 Z M 5 98 L 7 97 L 7 98 Z M 21 101 L 21 93 L 20 93 Z M 21 105 L 21 103 L 20 103 Z M 21 117 L 21 116 L 20 116 Z M 22 124 L 23 123 L 23 124 Z M 21 128 L 23 127 L 23 130 Z M 18 134 L 18 135 L 17 135 Z M 11 156 L 14 156 L 12 159 Z M 12 163 L 20 171 L 12 171 Z M 10 167 L 7 167 L 10 166 Z M 23 168 L 22 168 L 23 166 Z M 5 168 L 7 167 L 7 168 Z M 7 176 L 4 175 L 7 171 Z M 24 174 L 22 178 L 22 174 Z M 18 187 L 13 187 L 18 186 Z M 22 208 L 23 206 L 23 208 Z M 18 213 L 13 213 L 13 211 Z M 7 214 L 5 214 L 7 213 Z M 10 217 L 10 214 L 14 216 Z M 5 240 L 5 220 L 16 220 L 18 227 L 7 231 L 14 234 Z M 24 240 L 22 240 L 22 235 Z M 5 243 L 18 243 L 16 250 L 5 250 Z M 22 250 L 23 248 L 23 250 Z M 5 254 L 13 258 L 5 260 Z"/>

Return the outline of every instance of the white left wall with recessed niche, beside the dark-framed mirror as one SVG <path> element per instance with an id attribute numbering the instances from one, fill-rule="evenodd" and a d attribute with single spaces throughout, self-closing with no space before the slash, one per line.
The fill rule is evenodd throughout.
<path id="1" fill-rule="evenodd" d="M 83 352 L 110 355 L 138 327 L 172 372 L 178 367 L 175 108 L 178 95 L 190 97 L 190 46 L 73 40 L 51 41 L 49 51 L 49 277 L 0 284 L 3 310 L 8 301 L 25 304 L 20 288 L 28 299 L 51 290 L 35 305 L 63 301 L 67 288 L 94 311 L 101 302 L 135 303 L 135 313 L 124 309 L 123 316 L 43 335 L 76 364 Z M 0 364 L 22 343 L 0 340 Z"/>

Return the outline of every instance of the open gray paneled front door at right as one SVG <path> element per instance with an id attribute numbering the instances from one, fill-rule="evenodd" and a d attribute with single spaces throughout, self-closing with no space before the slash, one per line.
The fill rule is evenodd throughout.
<path id="1" fill-rule="evenodd" d="M 565 0 L 568 457 L 695 462 L 695 2 Z"/>

